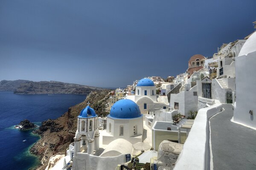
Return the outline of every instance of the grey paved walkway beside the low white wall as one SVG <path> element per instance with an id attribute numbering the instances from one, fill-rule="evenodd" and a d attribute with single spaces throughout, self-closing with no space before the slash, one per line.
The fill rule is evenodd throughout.
<path id="1" fill-rule="evenodd" d="M 256 130 L 231 122 L 232 107 L 223 107 L 210 119 L 213 169 L 256 170 Z"/>

